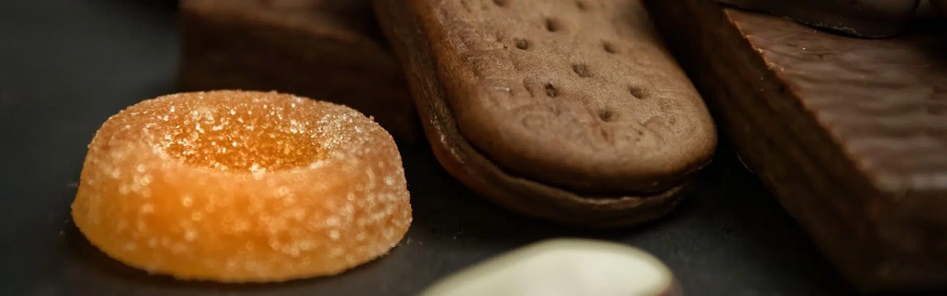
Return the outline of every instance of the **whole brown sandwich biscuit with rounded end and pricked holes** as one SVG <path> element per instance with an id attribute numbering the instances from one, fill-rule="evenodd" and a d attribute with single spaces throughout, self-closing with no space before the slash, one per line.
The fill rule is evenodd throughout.
<path id="1" fill-rule="evenodd" d="M 670 211 L 716 132 L 637 0 L 375 2 L 441 164 L 519 213 Z"/>

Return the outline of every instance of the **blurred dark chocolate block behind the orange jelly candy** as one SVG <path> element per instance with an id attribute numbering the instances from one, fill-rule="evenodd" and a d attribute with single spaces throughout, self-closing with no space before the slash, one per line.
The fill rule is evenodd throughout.
<path id="1" fill-rule="evenodd" d="M 184 90 L 277 90 L 346 104 L 420 140 L 401 65 L 366 0 L 182 0 Z"/>

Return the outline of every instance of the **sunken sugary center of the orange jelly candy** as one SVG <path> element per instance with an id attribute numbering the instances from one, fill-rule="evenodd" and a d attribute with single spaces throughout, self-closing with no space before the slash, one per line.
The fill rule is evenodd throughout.
<path id="1" fill-rule="evenodd" d="M 319 129 L 294 102 L 197 100 L 152 114 L 152 136 L 168 156 L 233 172 L 307 166 L 324 156 Z"/>

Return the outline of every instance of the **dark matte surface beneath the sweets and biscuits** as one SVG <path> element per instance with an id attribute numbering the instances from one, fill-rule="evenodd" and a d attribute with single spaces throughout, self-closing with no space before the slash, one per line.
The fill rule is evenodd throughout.
<path id="1" fill-rule="evenodd" d="M 85 146 L 121 108 L 172 92 L 166 0 L 0 2 L 0 294 L 412 295 L 448 272 L 545 237 L 583 232 L 515 217 L 471 194 L 427 148 L 402 148 L 415 223 L 388 257 L 278 285 L 184 283 L 126 268 L 69 221 Z M 735 157 L 648 226 L 588 234 L 652 251 L 688 295 L 849 295 L 849 287 Z"/>

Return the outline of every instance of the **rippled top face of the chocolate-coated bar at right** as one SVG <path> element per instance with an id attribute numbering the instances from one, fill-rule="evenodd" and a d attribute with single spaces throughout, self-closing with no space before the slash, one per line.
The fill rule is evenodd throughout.
<path id="1" fill-rule="evenodd" d="M 947 206 L 947 42 L 937 30 L 945 24 L 867 40 L 756 13 L 726 15 L 874 187 L 901 206 L 930 209 L 908 212 L 943 219 L 936 209 Z M 912 195 L 930 198 L 905 198 Z"/>

